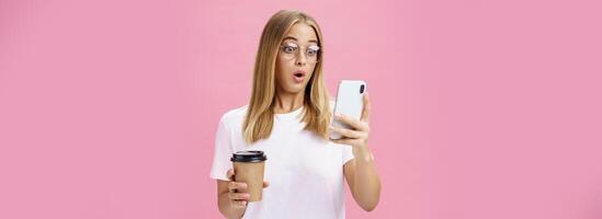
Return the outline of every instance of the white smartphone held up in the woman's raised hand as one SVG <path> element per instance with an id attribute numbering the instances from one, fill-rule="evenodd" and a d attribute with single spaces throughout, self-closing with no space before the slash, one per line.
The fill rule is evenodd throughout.
<path id="1" fill-rule="evenodd" d="M 353 118 L 362 118 L 364 110 L 364 93 L 366 92 L 366 82 L 362 80 L 342 80 L 339 82 L 337 91 L 337 101 L 334 103 L 334 114 L 343 114 Z M 332 116 L 331 124 L 334 127 L 352 129 L 349 125 L 334 119 Z M 330 139 L 341 139 L 342 136 L 331 131 Z"/>

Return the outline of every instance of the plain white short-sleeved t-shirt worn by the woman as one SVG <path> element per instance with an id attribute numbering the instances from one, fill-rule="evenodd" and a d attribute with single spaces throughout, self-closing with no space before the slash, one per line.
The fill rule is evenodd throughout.
<path id="1" fill-rule="evenodd" d="M 343 164 L 353 159 L 352 148 L 304 130 L 304 107 L 275 114 L 270 138 L 249 146 L 242 136 L 247 107 L 222 117 L 211 170 L 212 178 L 228 181 L 234 152 L 265 152 L 264 180 L 270 186 L 263 189 L 261 201 L 249 203 L 242 218 L 344 218 Z"/>

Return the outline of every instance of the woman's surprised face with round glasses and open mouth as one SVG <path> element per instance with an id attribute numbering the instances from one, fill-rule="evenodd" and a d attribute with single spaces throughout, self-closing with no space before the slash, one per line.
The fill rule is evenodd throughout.
<path id="1" fill-rule="evenodd" d="M 276 58 L 279 92 L 305 91 L 318 61 L 318 37 L 311 26 L 297 23 L 285 34 Z"/>

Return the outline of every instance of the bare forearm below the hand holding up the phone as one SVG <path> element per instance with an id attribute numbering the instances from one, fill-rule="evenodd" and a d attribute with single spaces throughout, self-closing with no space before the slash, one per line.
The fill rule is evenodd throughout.
<path id="1" fill-rule="evenodd" d="M 380 197 L 380 177 L 376 173 L 373 157 L 366 148 L 356 149 L 355 155 L 355 175 L 353 194 L 356 201 L 365 210 L 373 210 L 378 204 Z"/>

